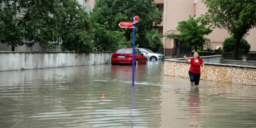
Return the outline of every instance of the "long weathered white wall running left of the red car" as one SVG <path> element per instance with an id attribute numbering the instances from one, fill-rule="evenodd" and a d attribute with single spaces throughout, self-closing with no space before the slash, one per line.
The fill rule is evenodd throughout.
<path id="1" fill-rule="evenodd" d="M 113 52 L 0 52 L 0 71 L 111 64 Z"/>

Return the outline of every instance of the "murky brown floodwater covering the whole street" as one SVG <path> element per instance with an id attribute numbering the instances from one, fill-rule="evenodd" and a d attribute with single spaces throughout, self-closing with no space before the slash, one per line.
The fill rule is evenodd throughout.
<path id="1" fill-rule="evenodd" d="M 0 128 L 256 128 L 256 86 L 163 71 L 135 67 L 134 87 L 132 66 L 0 72 Z"/>

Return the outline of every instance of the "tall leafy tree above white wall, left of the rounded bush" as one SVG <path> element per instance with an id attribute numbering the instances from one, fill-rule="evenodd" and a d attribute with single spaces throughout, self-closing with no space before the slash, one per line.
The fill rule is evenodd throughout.
<path id="1" fill-rule="evenodd" d="M 62 51 L 93 52 L 92 23 L 87 12 L 76 0 L 61 0 L 61 20 L 58 22 Z"/>

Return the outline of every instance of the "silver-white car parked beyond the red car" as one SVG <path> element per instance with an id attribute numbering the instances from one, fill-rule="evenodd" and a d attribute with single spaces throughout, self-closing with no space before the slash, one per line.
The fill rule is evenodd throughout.
<path id="1" fill-rule="evenodd" d="M 143 53 L 144 56 L 147 57 L 147 59 L 149 59 L 150 61 L 158 61 L 158 60 L 164 59 L 163 54 L 152 52 L 151 50 L 149 50 L 147 48 L 138 48 L 138 50 L 140 50 L 140 52 Z"/>

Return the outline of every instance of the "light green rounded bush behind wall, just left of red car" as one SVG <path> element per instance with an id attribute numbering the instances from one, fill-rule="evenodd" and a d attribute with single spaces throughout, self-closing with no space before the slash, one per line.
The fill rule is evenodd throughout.
<path id="1" fill-rule="evenodd" d="M 101 51 L 116 51 L 118 48 L 126 47 L 125 37 L 119 31 L 108 30 L 109 24 L 106 21 L 104 25 L 99 23 L 94 24 L 93 44 L 95 50 Z"/>

